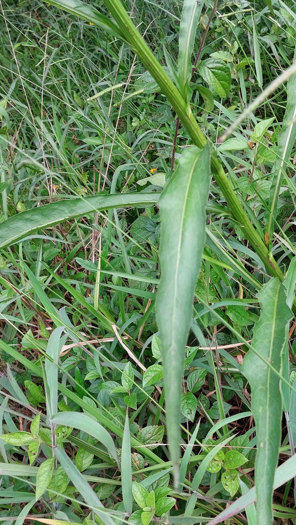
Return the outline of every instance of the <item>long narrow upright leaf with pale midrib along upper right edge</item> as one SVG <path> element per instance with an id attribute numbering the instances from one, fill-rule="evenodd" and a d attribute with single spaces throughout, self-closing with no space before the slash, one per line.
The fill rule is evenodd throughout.
<path id="1" fill-rule="evenodd" d="M 296 48 L 294 53 L 294 64 L 296 62 Z M 274 165 L 274 175 L 272 186 L 270 188 L 270 199 L 268 211 L 266 213 L 266 234 L 268 240 L 273 235 L 274 219 L 277 216 L 278 199 L 283 176 L 286 170 L 287 162 L 296 138 L 296 72 L 290 76 L 287 83 L 287 106 L 283 118 L 282 128 L 278 140 L 279 158 Z"/>

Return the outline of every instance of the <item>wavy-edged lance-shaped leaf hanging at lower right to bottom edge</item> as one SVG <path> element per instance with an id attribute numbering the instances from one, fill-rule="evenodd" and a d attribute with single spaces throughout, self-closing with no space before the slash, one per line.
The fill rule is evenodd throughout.
<path id="1" fill-rule="evenodd" d="M 281 352 L 286 344 L 287 324 L 292 312 L 287 306 L 284 286 L 271 279 L 257 295 L 261 315 L 254 327 L 252 346 L 280 372 Z M 280 378 L 268 364 L 249 350 L 242 373 L 251 385 L 252 412 L 256 424 L 257 454 L 255 483 L 258 525 L 272 525 L 272 492 L 281 440 L 282 398 Z"/>

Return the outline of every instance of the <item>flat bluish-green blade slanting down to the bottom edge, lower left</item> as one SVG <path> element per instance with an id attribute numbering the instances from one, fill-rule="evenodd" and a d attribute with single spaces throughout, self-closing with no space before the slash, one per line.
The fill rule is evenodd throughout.
<path id="1" fill-rule="evenodd" d="M 108 515 L 108 512 L 100 511 L 103 508 L 99 498 L 93 489 L 88 485 L 88 482 L 84 479 L 83 475 L 80 474 L 79 470 L 72 463 L 70 458 L 62 448 L 56 447 L 55 455 L 64 470 L 67 472 L 73 485 L 79 490 L 81 496 L 84 498 L 86 503 L 94 509 L 97 516 L 105 523 L 105 525 L 114 525 L 113 519 Z"/>

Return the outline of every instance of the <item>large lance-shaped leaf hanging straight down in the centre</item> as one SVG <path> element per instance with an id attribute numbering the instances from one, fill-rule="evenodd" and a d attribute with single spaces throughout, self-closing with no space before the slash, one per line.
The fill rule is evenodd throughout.
<path id="1" fill-rule="evenodd" d="M 168 443 L 177 489 L 185 345 L 205 242 L 209 186 L 209 145 L 203 150 L 192 146 L 182 153 L 177 170 L 159 199 L 161 278 L 156 318 L 164 365 Z"/>

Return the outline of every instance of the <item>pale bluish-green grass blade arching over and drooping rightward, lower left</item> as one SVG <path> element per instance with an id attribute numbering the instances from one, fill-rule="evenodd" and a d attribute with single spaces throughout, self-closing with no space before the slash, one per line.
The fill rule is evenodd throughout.
<path id="1" fill-rule="evenodd" d="M 100 443 L 103 443 L 107 450 L 109 450 L 109 453 L 115 461 L 118 461 L 115 445 L 110 434 L 103 426 L 94 421 L 94 419 L 91 419 L 91 417 L 88 417 L 86 414 L 81 412 L 59 412 L 53 416 L 51 421 L 58 425 L 67 425 L 69 427 L 78 428 L 90 436 L 95 437 Z"/>

